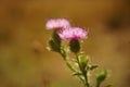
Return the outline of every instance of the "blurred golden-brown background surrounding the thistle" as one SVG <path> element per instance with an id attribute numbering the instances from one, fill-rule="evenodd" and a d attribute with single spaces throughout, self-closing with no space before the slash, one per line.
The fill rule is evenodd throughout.
<path id="1" fill-rule="evenodd" d="M 130 0 L 0 0 L 0 87 L 82 87 L 47 50 L 57 17 L 89 28 L 83 50 L 108 70 L 104 84 L 130 87 Z"/>

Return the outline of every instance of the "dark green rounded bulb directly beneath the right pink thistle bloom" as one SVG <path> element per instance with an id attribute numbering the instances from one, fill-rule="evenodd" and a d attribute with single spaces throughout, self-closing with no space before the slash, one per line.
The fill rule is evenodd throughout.
<path id="1" fill-rule="evenodd" d="M 80 51 L 80 42 L 78 40 L 70 40 L 69 47 L 72 52 L 77 53 Z"/>

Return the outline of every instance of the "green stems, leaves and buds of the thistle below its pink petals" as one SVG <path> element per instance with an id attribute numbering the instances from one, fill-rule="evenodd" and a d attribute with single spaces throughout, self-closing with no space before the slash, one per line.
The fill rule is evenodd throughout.
<path id="1" fill-rule="evenodd" d="M 49 40 L 49 46 L 52 51 L 58 52 L 68 69 L 73 72 L 73 76 L 76 76 L 80 79 L 80 82 L 84 85 L 84 87 L 92 87 L 89 82 L 89 73 L 96 67 L 98 65 L 89 64 L 89 57 L 80 51 L 80 40 L 70 40 L 64 45 L 57 34 L 57 30 L 54 30 L 52 34 L 52 38 Z M 69 58 L 69 54 L 74 54 L 73 60 Z M 107 77 L 107 71 L 103 70 L 96 75 L 96 86 L 100 87 L 101 84 Z M 105 87 L 110 87 L 112 85 L 107 85 Z"/>

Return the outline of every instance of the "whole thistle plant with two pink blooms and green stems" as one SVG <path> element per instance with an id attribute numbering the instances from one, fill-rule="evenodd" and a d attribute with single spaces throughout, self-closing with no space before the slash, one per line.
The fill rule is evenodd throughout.
<path id="1" fill-rule="evenodd" d="M 81 44 L 88 38 L 89 32 L 81 27 L 72 26 L 66 18 L 49 20 L 46 26 L 47 29 L 53 30 L 49 40 L 49 50 L 62 55 L 73 76 L 78 77 L 84 87 L 101 87 L 107 77 L 107 71 L 103 70 L 96 74 L 95 86 L 92 86 L 89 74 L 99 66 L 90 64 L 90 58 L 81 49 Z M 110 87 L 110 85 L 105 87 Z"/>

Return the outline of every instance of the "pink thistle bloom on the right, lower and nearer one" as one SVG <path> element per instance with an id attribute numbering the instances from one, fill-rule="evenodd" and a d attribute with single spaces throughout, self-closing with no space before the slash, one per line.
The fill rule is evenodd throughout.
<path id="1" fill-rule="evenodd" d="M 67 27 L 58 32 L 58 36 L 62 40 L 79 40 L 86 39 L 88 32 L 80 27 Z"/>

